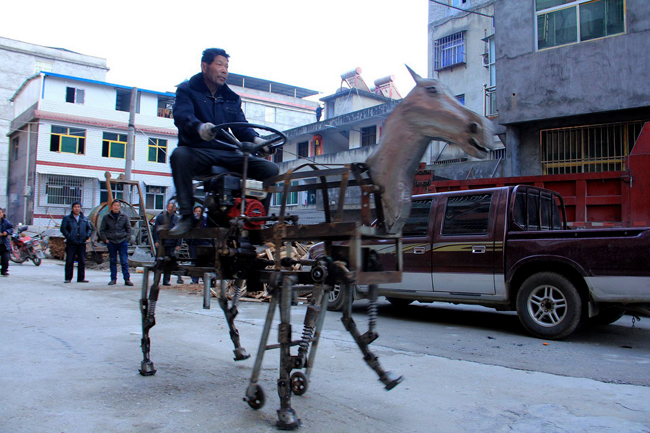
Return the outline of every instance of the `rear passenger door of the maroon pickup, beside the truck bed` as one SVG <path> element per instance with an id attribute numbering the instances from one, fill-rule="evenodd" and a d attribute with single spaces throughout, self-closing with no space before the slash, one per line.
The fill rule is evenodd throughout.
<path id="1" fill-rule="evenodd" d="M 433 290 L 471 296 L 495 294 L 494 266 L 502 255 L 495 239 L 502 190 L 467 191 L 439 200 L 432 246 Z"/>

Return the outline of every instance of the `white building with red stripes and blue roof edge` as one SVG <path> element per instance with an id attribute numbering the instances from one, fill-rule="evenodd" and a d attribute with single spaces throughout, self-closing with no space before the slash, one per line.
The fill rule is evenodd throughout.
<path id="1" fill-rule="evenodd" d="M 125 172 L 130 95 L 130 87 L 43 72 L 20 86 L 11 98 L 10 219 L 52 225 L 76 200 L 84 212 L 106 201 L 105 173 Z M 171 93 L 138 91 L 132 178 L 151 212 L 164 208 L 173 184 L 173 100 Z"/>

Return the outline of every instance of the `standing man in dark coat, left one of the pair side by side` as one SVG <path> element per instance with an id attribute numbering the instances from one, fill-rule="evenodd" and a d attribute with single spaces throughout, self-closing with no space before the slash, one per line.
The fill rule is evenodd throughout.
<path id="1" fill-rule="evenodd" d="M 61 233 L 65 236 L 65 281 L 72 281 L 74 261 L 77 260 L 77 282 L 87 283 L 86 280 L 86 241 L 90 239 L 92 228 L 90 221 L 81 212 L 81 203 L 72 203 L 70 215 L 61 221 Z"/>

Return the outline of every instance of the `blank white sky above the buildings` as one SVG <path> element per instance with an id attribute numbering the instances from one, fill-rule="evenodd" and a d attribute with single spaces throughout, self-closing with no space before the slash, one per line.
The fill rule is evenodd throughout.
<path id="1" fill-rule="evenodd" d="M 405 96 L 404 64 L 426 76 L 427 11 L 427 0 L 35 0 L 3 4 L 0 36 L 105 58 L 107 82 L 148 90 L 175 92 L 218 47 L 232 73 L 321 97 L 357 67 L 370 87 L 394 75 Z"/>

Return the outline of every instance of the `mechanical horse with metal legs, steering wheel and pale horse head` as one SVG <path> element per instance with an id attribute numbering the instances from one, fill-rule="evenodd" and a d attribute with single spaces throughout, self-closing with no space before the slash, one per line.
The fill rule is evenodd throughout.
<path id="1" fill-rule="evenodd" d="M 407 66 L 408 68 L 408 66 Z M 206 182 L 206 207 L 212 221 L 221 221 L 219 227 L 193 229 L 183 238 L 211 239 L 211 247 L 203 251 L 192 265 L 179 265 L 173 257 L 159 257 L 151 268 L 155 272 L 154 282 L 148 287 L 148 272 L 145 272 L 142 299 L 142 352 L 144 359 L 140 373 L 155 373 L 150 359 L 149 330 L 155 325 L 155 304 L 159 294 L 159 283 L 163 271 L 182 268 L 190 275 L 204 276 L 204 306 L 209 303 L 211 287 L 219 281 L 219 303 L 226 315 L 230 337 L 235 346 L 235 360 L 248 358 L 241 347 L 239 332 L 234 324 L 237 302 L 241 287 L 246 281 L 250 286 L 265 283 L 271 296 L 262 336 L 249 385 L 244 400 L 253 409 L 260 409 L 265 403 L 265 394 L 259 378 L 266 351 L 279 349 L 280 365 L 277 380 L 280 409 L 277 426 L 281 429 L 295 429 L 301 424 L 291 407 L 292 394 L 302 395 L 309 385 L 309 376 L 314 366 L 316 349 L 320 339 L 327 297 L 334 286 L 344 293 L 342 322 L 359 346 L 364 361 L 372 368 L 387 390 L 397 386 L 401 376 L 393 375 L 382 368 L 377 356 L 370 350 L 370 344 L 378 338 L 375 330 L 377 321 L 377 283 L 399 282 L 402 276 L 401 228 L 410 212 L 410 197 L 413 177 L 426 147 L 433 139 L 456 143 L 468 154 L 485 157 L 493 148 L 489 123 L 463 107 L 436 79 L 425 79 L 410 68 L 416 82 L 413 90 L 388 116 L 383 135 L 373 154 L 365 164 L 320 165 L 308 163 L 264 182 L 264 191 L 282 195 L 278 216 L 247 213 L 245 205 L 250 200 L 246 170 L 243 176 L 217 174 Z M 235 124 L 219 125 L 220 131 L 232 144 L 240 147 L 247 155 L 266 146 L 281 146 L 286 137 L 279 131 L 260 127 L 274 134 L 266 143 L 255 146 L 240 143 L 227 133 Z M 223 176 L 236 176 L 234 184 L 223 180 Z M 221 181 L 218 181 L 221 179 Z M 315 180 L 304 184 L 304 180 Z M 224 185 L 234 185 L 224 192 Z M 297 218 L 287 213 L 287 197 L 291 193 L 317 189 L 323 199 L 325 222 L 301 225 Z M 344 218 L 346 199 L 357 189 L 359 211 L 353 221 Z M 356 192 L 356 191 L 354 191 Z M 233 201 L 237 197 L 239 200 Z M 338 200 L 338 203 L 337 203 Z M 332 205 L 336 204 L 336 207 Z M 232 211 L 232 205 L 239 211 Z M 374 212 L 374 215 L 373 215 Z M 223 226 L 226 213 L 227 225 Z M 266 226 L 259 225 L 262 222 Z M 173 238 L 163 231 L 160 238 Z M 398 260 L 395 269 L 382 269 L 376 254 L 364 247 L 364 241 L 382 239 L 392 244 Z M 276 251 L 282 246 L 290 248 L 292 242 L 322 241 L 324 255 L 317 259 L 293 260 L 276 254 L 274 260 L 258 258 L 255 246 L 273 244 Z M 198 264 L 201 263 L 199 266 Z M 300 265 L 300 266 L 297 266 Z M 297 269 L 297 270 L 296 270 Z M 226 297 L 225 281 L 235 281 L 235 295 Z M 352 319 L 354 284 L 368 285 L 368 330 L 359 332 Z M 294 339 L 291 313 L 294 292 L 310 292 L 300 338 Z M 276 309 L 280 311 L 278 343 L 268 344 Z M 297 351 L 293 348 L 297 346 Z M 304 373 L 303 371 L 304 370 Z"/>

